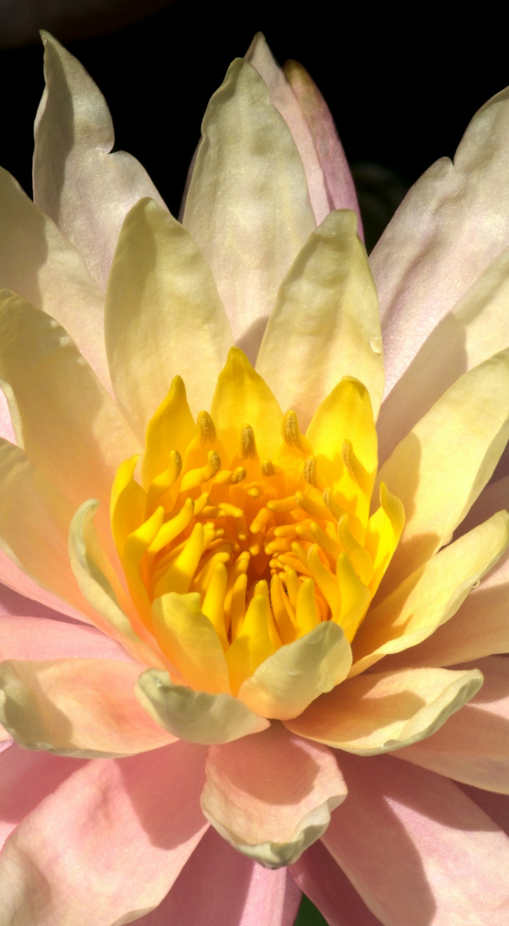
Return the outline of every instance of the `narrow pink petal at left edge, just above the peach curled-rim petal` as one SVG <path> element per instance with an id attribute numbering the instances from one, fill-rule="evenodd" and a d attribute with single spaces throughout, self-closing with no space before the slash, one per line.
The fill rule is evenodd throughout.
<path id="1" fill-rule="evenodd" d="M 85 624 L 50 619 L 44 616 L 43 608 L 41 612 L 41 616 L 34 616 L 36 608 L 33 607 L 30 616 L 13 616 L 12 613 L 2 616 L 0 660 L 81 657 L 131 661 L 124 647 L 106 636 L 106 633 Z"/>

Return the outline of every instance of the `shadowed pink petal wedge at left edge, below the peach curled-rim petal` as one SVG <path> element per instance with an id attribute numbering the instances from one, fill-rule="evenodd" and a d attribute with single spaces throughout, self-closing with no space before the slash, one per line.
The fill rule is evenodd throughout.
<path id="1" fill-rule="evenodd" d="M 8 748 L 0 755 L 0 847 L 44 797 L 85 764 L 81 759 L 31 752 L 16 743 L 5 745 Z"/>

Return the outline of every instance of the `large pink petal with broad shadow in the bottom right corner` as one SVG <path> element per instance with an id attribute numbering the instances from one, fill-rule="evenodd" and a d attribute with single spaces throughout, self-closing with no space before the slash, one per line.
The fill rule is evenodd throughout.
<path id="1" fill-rule="evenodd" d="M 348 797 L 322 841 L 379 920 L 508 920 L 509 840 L 459 787 L 389 756 L 340 762 Z"/>

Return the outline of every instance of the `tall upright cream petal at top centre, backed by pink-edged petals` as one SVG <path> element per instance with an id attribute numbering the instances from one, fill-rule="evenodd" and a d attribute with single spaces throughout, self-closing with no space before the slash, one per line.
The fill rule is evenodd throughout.
<path id="1" fill-rule="evenodd" d="M 235 343 L 254 362 L 279 282 L 315 217 L 292 134 L 241 58 L 205 112 L 183 224 L 212 268 Z"/>

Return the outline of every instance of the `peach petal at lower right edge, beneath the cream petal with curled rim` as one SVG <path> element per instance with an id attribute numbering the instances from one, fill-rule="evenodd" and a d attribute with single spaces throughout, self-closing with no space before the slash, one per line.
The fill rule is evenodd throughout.
<path id="1" fill-rule="evenodd" d="M 398 758 L 458 782 L 507 795 L 509 666 L 505 657 L 492 656 L 479 660 L 476 667 L 484 677 L 478 694 L 439 731 L 402 749 Z"/>

